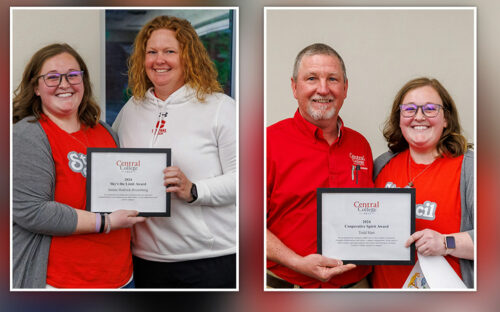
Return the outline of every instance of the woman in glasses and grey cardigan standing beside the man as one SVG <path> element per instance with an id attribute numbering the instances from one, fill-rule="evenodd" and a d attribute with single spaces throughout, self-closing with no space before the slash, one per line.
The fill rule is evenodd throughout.
<path id="1" fill-rule="evenodd" d="M 474 285 L 474 154 L 462 135 L 452 97 L 436 79 L 407 82 L 384 128 L 390 152 L 374 162 L 376 187 L 416 192 L 417 256 L 444 256 L 467 287 Z M 401 288 L 412 266 L 375 266 L 373 287 Z M 417 275 L 415 275 L 416 277 Z M 425 279 L 414 283 L 425 287 Z"/>

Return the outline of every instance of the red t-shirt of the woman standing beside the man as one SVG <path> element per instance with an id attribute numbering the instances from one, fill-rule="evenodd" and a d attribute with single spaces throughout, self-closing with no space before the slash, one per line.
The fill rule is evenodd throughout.
<path id="1" fill-rule="evenodd" d="M 457 233 L 460 232 L 461 220 L 462 160 L 463 156 L 442 157 L 428 167 L 426 164 L 415 163 L 409 151 L 405 150 L 382 169 L 375 186 L 386 187 L 388 183 L 392 183 L 396 187 L 405 187 L 416 177 L 413 181 L 416 189 L 415 230 L 432 229 L 442 234 Z M 452 256 L 445 258 L 458 276 L 461 276 L 459 259 Z M 376 265 L 372 274 L 373 287 L 401 288 L 412 268 L 411 265 Z"/>

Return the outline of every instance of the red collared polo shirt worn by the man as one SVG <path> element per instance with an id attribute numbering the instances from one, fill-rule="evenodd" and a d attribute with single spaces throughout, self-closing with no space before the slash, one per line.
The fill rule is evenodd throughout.
<path id="1" fill-rule="evenodd" d="M 370 145 L 361 134 L 340 125 L 340 137 L 331 146 L 322 130 L 298 111 L 294 118 L 267 128 L 267 228 L 301 256 L 317 252 L 317 188 L 373 187 Z M 357 165 L 356 177 L 352 169 Z M 267 268 L 311 288 L 340 287 L 371 271 L 371 266 L 358 266 L 322 283 L 272 261 Z"/>

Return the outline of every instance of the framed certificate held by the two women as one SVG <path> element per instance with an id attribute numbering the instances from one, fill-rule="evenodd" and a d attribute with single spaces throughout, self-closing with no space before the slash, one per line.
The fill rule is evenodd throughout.
<path id="1" fill-rule="evenodd" d="M 88 148 L 87 210 L 137 210 L 141 216 L 170 216 L 163 169 L 170 149 Z"/>

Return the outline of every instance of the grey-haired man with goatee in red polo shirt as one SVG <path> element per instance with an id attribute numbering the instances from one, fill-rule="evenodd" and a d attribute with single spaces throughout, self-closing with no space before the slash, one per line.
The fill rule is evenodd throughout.
<path id="1" fill-rule="evenodd" d="M 295 59 L 293 118 L 267 128 L 267 286 L 369 287 L 370 266 L 317 254 L 316 190 L 373 187 L 370 146 L 338 116 L 347 96 L 340 55 L 316 43 Z"/>

